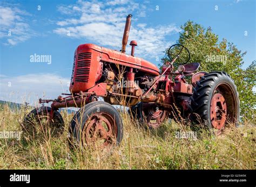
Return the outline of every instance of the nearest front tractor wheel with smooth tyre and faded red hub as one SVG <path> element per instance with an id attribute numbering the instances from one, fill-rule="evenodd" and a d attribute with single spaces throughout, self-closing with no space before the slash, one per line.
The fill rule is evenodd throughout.
<path id="1" fill-rule="evenodd" d="M 70 133 L 73 143 L 83 147 L 119 145 L 123 138 L 122 118 L 109 103 L 91 102 L 77 111 L 71 120 Z"/>

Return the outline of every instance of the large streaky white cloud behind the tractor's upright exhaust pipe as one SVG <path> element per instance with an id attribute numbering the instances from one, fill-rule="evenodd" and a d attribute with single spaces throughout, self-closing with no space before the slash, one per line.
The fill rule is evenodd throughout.
<path id="1" fill-rule="evenodd" d="M 73 5 L 58 6 L 58 10 L 69 16 L 57 22 L 53 32 L 69 37 L 87 39 L 94 44 L 119 50 L 122 46 L 126 16 L 132 13 L 132 26 L 129 40 L 136 40 L 136 56 L 155 57 L 162 55 L 165 48 L 172 44 L 167 35 L 180 32 L 174 24 L 148 26 L 136 23 L 146 16 L 147 5 L 133 1 L 114 0 L 105 4 L 97 1 L 78 1 Z M 128 45 L 129 42 L 128 41 Z M 130 47 L 127 46 L 127 53 Z"/>

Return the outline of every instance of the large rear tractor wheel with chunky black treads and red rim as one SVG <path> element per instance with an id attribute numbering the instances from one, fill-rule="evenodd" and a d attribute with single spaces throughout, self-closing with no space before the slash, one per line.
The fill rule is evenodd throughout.
<path id="1" fill-rule="evenodd" d="M 192 120 L 219 135 L 228 125 L 238 125 L 239 98 L 230 75 L 213 71 L 201 77 L 191 96 Z"/>

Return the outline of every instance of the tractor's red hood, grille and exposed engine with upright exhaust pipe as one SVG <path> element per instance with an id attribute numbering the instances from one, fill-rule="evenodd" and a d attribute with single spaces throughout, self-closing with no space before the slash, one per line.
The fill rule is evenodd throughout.
<path id="1" fill-rule="evenodd" d="M 149 61 L 134 57 L 137 42 L 132 40 L 131 55 L 125 54 L 131 24 L 131 15 L 126 18 L 121 52 L 94 44 L 79 45 L 73 59 L 70 92 L 93 92 L 95 87 L 105 89 L 104 99 L 110 104 L 125 104 L 119 95 L 129 96 L 129 104 L 138 102 L 138 97 L 159 76 L 159 69 Z M 140 88 L 140 84 L 142 88 Z M 102 87 L 103 86 L 103 87 Z M 134 97 L 132 97 L 134 96 Z M 123 103 L 124 102 L 124 103 Z"/>

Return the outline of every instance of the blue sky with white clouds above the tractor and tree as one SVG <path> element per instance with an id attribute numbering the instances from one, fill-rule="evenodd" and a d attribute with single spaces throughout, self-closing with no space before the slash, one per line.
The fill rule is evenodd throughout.
<path id="1" fill-rule="evenodd" d="M 152 63 L 158 64 L 156 57 L 176 42 L 189 19 L 247 51 L 244 68 L 256 59 L 253 0 L 1 1 L 0 8 L 2 100 L 33 102 L 67 92 L 76 47 L 94 43 L 119 50 L 129 13 L 129 41 L 137 40 L 136 55 Z M 51 55 L 51 63 L 31 63 L 35 53 Z"/>

